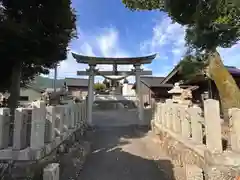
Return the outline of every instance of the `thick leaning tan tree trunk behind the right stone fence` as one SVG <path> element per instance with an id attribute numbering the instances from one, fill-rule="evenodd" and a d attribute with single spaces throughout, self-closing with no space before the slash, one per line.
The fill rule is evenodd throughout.
<path id="1" fill-rule="evenodd" d="M 227 119 L 229 108 L 240 108 L 240 91 L 236 81 L 224 67 L 221 57 L 217 51 L 209 53 L 208 60 L 208 73 L 210 78 L 216 84 L 222 104 L 224 119 Z"/>

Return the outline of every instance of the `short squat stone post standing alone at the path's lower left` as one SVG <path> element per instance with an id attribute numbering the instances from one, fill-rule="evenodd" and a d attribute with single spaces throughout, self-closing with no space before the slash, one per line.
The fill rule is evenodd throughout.
<path id="1" fill-rule="evenodd" d="M 43 170 L 43 180 L 59 180 L 59 164 L 49 164 Z"/>

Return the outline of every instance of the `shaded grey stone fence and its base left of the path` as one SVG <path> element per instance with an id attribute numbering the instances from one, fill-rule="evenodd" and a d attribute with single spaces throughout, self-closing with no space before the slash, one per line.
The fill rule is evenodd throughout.
<path id="1" fill-rule="evenodd" d="M 85 150 L 89 149 L 85 148 L 87 142 L 82 138 L 87 127 L 85 101 L 56 106 L 36 101 L 31 108 L 17 108 L 12 139 L 9 137 L 12 124 L 9 112 L 8 108 L 0 108 L 0 165 L 4 165 L 1 170 L 5 176 L 11 176 L 10 179 L 59 180 L 57 163 L 66 166 L 64 157 L 68 157 L 71 169 L 78 161 L 84 161 Z M 76 151 L 78 156 L 73 157 Z M 50 163 L 54 164 L 43 171 Z M 65 169 L 62 168 L 60 173 Z"/>

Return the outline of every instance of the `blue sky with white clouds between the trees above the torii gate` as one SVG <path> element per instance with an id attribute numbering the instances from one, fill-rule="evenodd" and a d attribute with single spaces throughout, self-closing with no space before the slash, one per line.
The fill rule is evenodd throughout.
<path id="1" fill-rule="evenodd" d="M 73 0 L 77 12 L 78 39 L 74 39 L 71 51 L 90 56 L 130 57 L 158 53 L 151 65 L 144 69 L 154 76 L 165 76 L 177 64 L 185 52 L 184 27 L 173 24 L 170 18 L 159 11 L 132 12 L 121 0 Z M 240 67 L 237 44 L 231 49 L 219 49 L 225 64 Z M 77 70 L 85 70 L 68 55 L 60 63 L 59 77 L 77 77 Z M 108 65 L 99 69 L 111 70 Z M 119 69 L 130 70 L 131 66 Z M 52 77 L 51 72 L 49 77 Z M 100 78 L 101 79 L 101 78 Z"/>

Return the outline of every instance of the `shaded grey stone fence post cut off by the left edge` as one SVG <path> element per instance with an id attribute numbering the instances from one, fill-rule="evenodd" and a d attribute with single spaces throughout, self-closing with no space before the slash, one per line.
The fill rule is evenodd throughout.
<path id="1" fill-rule="evenodd" d="M 10 128 L 9 108 L 0 108 L 0 149 L 8 147 Z"/>

